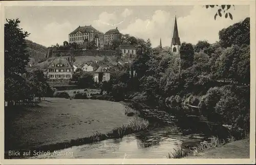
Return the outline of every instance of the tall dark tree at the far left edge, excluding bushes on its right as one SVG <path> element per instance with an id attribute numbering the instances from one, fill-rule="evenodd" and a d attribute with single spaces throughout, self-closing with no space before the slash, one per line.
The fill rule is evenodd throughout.
<path id="1" fill-rule="evenodd" d="M 28 32 L 19 28 L 18 19 L 8 19 L 5 23 L 5 101 L 26 100 L 31 97 L 25 79 L 20 75 L 26 73 L 29 62 L 25 38 Z"/>

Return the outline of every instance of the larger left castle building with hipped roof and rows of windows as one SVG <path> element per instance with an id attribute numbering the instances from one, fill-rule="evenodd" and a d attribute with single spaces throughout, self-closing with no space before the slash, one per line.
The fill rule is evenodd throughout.
<path id="1" fill-rule="evenodd" d="M 100 40 L 101 39 L 101 40 Z M 103 33 L 90 26 L 78 27 L 69 34 L 69 42 L 76 42 L 79 45 L 95 41 L 96 46 L 103 43 Z M 102 45 L 103 46 L 103 45 Z"/>

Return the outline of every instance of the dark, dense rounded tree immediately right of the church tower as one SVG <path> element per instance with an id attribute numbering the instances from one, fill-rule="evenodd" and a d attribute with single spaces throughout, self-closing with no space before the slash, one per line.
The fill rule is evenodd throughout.
<path id="1" fill-rule="evenodd" d="M 194 48 L 191 43 L 183 42 L 180 46 L 181 69 L 186 69 L 193 65 Z"/>

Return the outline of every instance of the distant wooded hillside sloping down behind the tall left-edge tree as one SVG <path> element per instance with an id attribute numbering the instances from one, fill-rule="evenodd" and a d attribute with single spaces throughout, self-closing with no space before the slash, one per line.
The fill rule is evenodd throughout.
<path id="1" fill-rule="evenodd" d="M 25 40 L 25 42 L 28 46 L 27 50 L 30 56 L 30 64 L 36 64 L 46 59 L 48 50 L 46 46 L 40 45 L 27 39 Z"/>

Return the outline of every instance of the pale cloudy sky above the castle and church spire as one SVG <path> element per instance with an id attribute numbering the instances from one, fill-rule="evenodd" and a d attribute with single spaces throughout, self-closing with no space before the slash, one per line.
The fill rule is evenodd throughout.
<path id="1" fill-rule="evenodd" d="M 199 40 L 214 43 L 219 31 L 249 17 L 249 6 L 231 7 L 233 20 L 214 15 L 217 8 L 204 6 L 12 6 L 5 7 L 5 18 L 19 18 L 20 27 L 29 32 L 27 39 L 51 46 L 68 41 L 78 26 L 92 25 L 105 33 L 116 27 L 121 33 L 150 38 L 152 46 L 169 46 L 175 15 L 181 42 L 196 44 Z"/>

